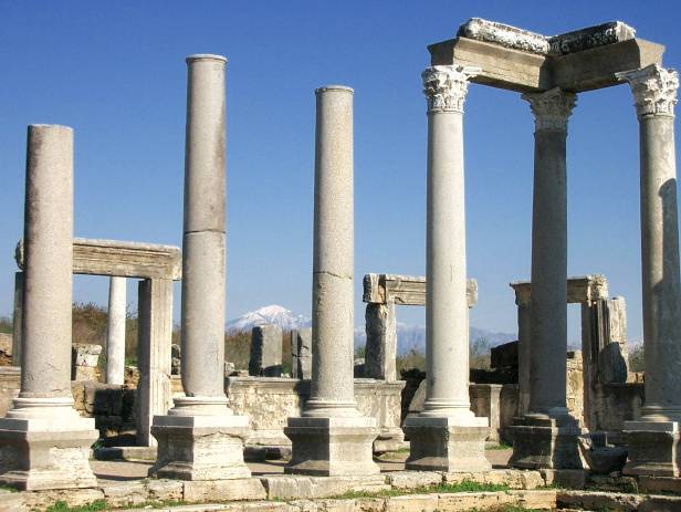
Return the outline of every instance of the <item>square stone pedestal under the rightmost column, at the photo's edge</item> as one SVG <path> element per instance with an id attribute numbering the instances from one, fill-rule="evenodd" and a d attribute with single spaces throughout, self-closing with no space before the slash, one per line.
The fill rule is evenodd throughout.
<path id="1" fill-rule="evenodd" d="M 625 421 L 629 453 L 622 473 L 650 477 L 681 476 L 677 421 Z"/>

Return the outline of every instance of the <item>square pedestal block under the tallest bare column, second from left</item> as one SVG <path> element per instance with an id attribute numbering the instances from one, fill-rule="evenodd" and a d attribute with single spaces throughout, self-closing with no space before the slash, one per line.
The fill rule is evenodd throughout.
<path id="1" fill-rule="evenodd" d="M 149 477 L 178 480 L 249 478 L 251 471 L 243 461 L 243 440 L 248 432 L 247 416 L 155 416 L 151 435 L 158 441 L 158 454 L 156 463 L 149 468 Z"/>

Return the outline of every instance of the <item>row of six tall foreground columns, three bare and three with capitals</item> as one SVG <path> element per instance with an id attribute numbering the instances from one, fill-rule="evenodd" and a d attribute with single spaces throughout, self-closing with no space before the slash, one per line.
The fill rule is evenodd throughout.
<path id="1" fill-rule="evenodd" d="M 181 307 L 186 396 L 153 419 L 158 458 L 149 473 L 234 479 L 250 471 L 242 454 L 249 420 L 228 407 L 222 376 L 226 59 L 193 55 L 187 63 Z M 423 411 L 405 426 L 411 438 L 410 469 L 490 468 L 484 458 L 486 418 L 473 416 L 468 393 L 463 103 L 468 82 L 476 73 L 478 69 L 464 66 L 433 66 L 423 73 L 428 386 Z M 632 84 L 641 124 L 643 307 L 650 354 L 645 420 L 672 425 L 666 432 L 677 442 L 681 394 L 674 391 L 681 390 L 681 380 L 674 377 L 673 365 L 681 358 L 681 303 L 672 107 L 678 80 L 659 66 L 622 79 Z M 648 101 L 651 91 L 659 95 L 660 90 L 667 95 Z M 552 90 L 524 98 L 535 115 L 533 348 L 530 412 L 515 427 L 513 463 L 569 467 L 579 433 L 566 410 L 563 356 L 567 346 L 565 144 L 575 97 Z M 285 433 L 292 440 L 293 457 L 286 472 L 370 474 L 378 472 L 371 460 L 378 431 L 375 419 L 358 412 L 353 382 L 353 91 L 322 87 L 316 102 L 312 396 L 302 417 L 289 419 Z M 94 477 L 88 447 L 97 435 L 94 420 L 80 418 L 73 408 L 69 378 L 72 130 L 31 126 L 28 155 L 22 384 L 8 418 L 0 420 L 0 464 L 4 464 L 0 472 L 2 480 L 30 489 L 90 487 Z M 36 443 L 29 436 L 34 432 L 49 442 Z"/>

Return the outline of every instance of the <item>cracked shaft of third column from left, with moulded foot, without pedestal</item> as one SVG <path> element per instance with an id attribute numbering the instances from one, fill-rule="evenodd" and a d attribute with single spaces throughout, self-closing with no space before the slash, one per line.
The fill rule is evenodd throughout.
<path id="1" fill-rule="evenodd" d="M 304 415 L 355 415 L 352 88 L 316 91 L 315 138 L 312 397 Z"/>

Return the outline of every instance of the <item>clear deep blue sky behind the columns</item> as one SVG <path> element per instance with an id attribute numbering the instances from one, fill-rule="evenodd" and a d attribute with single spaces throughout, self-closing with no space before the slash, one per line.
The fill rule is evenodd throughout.
<path id="1" fill-rule="evenodd" d="M 679 67 L 680 14 L 675 0 L 1 0 L 0 315 L 12 310 L 28 124 L 75 129 L 76 236 L 180 244 L 185 56 L 227 55 L 227 317 L 265 304 L 310 314 L 314 88 L 354 87 L 360 325 L 363 274 L 425 273 L 427 44 L 472 17 L 544 34 L 619 19 L 666 44 L 664 64 Z M 509 282 L 530 275 L 533 118 L 518 94 L 480 85 L 465 111 L 468 265 L 480 289 L 471 322 L 515 332 Z M 569 274 L 606 274 L 611 294 L 627 299 L 629 338 L 640 339 L 638 125 L 628 86 L 579 95 L 567 164 Z M 104 278 L 75 280 L 74 300 L 105 304 L 106 294 Z M 422 311 L 402 310 L 399 320 L 422 323 Z"/>

